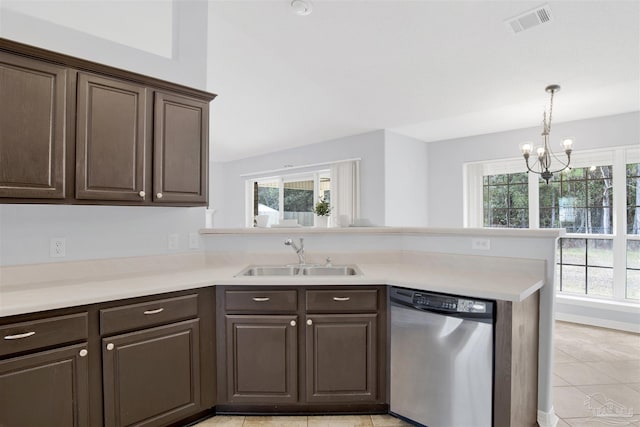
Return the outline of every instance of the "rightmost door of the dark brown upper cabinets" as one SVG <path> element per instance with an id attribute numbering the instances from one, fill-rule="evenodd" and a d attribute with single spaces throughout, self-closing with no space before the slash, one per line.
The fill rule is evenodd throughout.
<path id="1" fill-rule="evenodd" d="M 154 108 L 153 200 L 205 204 L 209 104 L 156 92 Z"/>

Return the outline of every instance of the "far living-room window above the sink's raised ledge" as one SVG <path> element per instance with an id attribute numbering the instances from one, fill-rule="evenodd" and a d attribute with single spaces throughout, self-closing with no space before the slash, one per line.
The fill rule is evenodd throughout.
<path id="1" fill-rule="evenodd" d="M 252 226 L 256 215 L 269 217 L 268 225 L 282 220 L 312 227 L 313 208 L 319 197 L 330 200 L 330 173 L 327 170 L 300 175 L 287 175 L 250 180 L 251 205 L 247 225 Z"/>

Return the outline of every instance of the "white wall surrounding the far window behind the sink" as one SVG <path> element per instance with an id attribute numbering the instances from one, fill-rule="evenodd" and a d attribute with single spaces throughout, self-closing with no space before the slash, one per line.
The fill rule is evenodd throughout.
<path id="1" fill-rule="evenodd" d="M 306 145 L 249 157 L 232 162 L 213 164 L 210 205 L 216 210 L 214 226 L 244 227 L 245 180 L 241 175 L 282 169 L 284 165 L 309 165 L 360 158 L 361 217 L 373 224 L 385 224 L 384 217 L 384 136 L 382 130 L 348 136 L 331 141 Z M 292 170 L 289 173 L 300 172 Z M 286 170 L 271 175 L 281 175 Z"/>

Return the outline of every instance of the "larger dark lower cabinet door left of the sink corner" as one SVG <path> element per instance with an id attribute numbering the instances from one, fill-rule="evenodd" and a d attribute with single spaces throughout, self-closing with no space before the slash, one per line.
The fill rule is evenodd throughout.
<path id="1" fill-rule="evenodd" d="M 198 412 L 198 319 L 102 340 L 105 426 L 161 426 Z"/>

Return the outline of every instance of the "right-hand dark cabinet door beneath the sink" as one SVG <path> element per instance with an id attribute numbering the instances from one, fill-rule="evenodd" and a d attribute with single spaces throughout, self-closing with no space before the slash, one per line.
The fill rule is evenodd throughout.
<path id="1" fill-rule="evenodd" d="M 307 316 L 307 402 L 377 400 L 377 314 Z"/>

